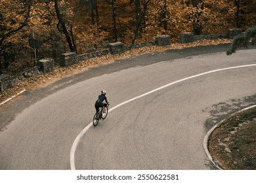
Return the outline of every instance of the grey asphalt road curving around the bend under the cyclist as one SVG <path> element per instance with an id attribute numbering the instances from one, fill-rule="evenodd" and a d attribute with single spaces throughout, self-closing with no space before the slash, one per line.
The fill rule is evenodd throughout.
<path id="1" fill-rule="evenodd" d="M 256 103 L 256 51 L 225 50 L 135 56 L 25 92 L 0 111 L 0 169 L 70 169 L 72 146 L 91 123 L 102 89 L 110 108 L 133 101 L 81 135 L 75 169 L 215 169 L 203 149 L 205 134 Z M 217 70 L 241 65 L 247 67 Z"/>

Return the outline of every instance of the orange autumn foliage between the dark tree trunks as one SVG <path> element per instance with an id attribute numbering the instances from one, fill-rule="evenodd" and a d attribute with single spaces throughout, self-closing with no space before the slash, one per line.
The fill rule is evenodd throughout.
<path id="1" fill-rule="evenodd" d="M 160 34 L 171 35 L 172 38 L 177 40 L 179 33 L 192 32 L 196 28 L 201 29 L 198 32 L 203 34 L 223 33 L 226 29 L 236 25 L 234 1 L 203 0 L 197 1 L 202 3 L 196 5 L 196 1 L 192 0 L 150 0 L 150 3 L 145 7 L 147 1 L 140 1 L 140 10 L 143 10 L 144 16 L 137 42 L 152 41 L 156 35 Z M 17 29 L 26 19 L 28 4 L 22 2 L 24 1 L 0 0 L 0 42 L 1 37 L 9 31 Z M 93 25 L 92 22 L 96 16 L 94 14 L 95 17 L 92 17 L 90 1 L 58 1 L 68 33 L 72 35 L 72 41 L 76 44 L 79 54 L 96 48 L 100 49 L 102 46 L 106 46 L 107 42 L 114 41 L 111 1 L 97 2 L 99 24 Z M 253 6 L 256 3 L 255 0 L 247 2 Z M 254 2 L 254 4 L 251 2 Z M 248 4 L 245 8 L 255 10 L 253 6 L 250 7 Z M 136 17 L 136 15 L 141 14 L 141 12 L 136 12 L 135 1 L 115 1 L 114 7 L 116 8 L 115 32 L 117 32 L 117 41 L 131 44 L 137 29 L 136 18 L 138 16 Z M 245 21 L 243 22 L 245 26 L 254 24 L 253 22 L 256 20 L 255 11 L 243 16 L 242 20 Z M 15 53 L 16 56 L 21 56 L 26 61 L 33 59 L 30 54 L 31 48 L 24 50 L 22 53 L 17 53 L 23 48 L 28 48 L 28 39 L 32 38 L 32 29 L 35 33 L 35 39 L 43 42 L 42 47 L 38 50 L 39 56 L 54 57 L 61 52 L 65 52 L 68 48 L 64 34 L 57 30 L 58 20 L 56 19 L 53 1 L 33 0 L 30 18 L 27 23 L 22 30 L 5 39 L 5 45 L 12 44 L 10 48 L 5 48 L 7 51 L 13 50 L 9 54 Z M 61 25 L 58 27 L 62 29 Z M 16 56 L 12 58 L 18 58 Z"/>

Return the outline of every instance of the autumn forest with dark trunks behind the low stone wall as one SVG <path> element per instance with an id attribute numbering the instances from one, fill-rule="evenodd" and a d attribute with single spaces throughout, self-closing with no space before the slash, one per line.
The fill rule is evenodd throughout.
<path id="1" fill-rule="evenodd" d="M 156 35 L 224 33 L 256 25 L 256 0 L 1 0 L 0 74 L 37 59 L 85 54 L 110 42 L 154 41 Z M 29 41 L 35 39 L 36 50 Z"/>

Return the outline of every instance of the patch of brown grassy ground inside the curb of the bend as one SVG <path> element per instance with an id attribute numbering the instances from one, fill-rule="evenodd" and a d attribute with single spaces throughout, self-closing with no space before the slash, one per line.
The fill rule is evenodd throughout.
<path id="1" fill-rule="evenodd" d="M 222 169 L 256 169 L 256 107 L 230 116 L 209 140 L 213 161 Z"/>

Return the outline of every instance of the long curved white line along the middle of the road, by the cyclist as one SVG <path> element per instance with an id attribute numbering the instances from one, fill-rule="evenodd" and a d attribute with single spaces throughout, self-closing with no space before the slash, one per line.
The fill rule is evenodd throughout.
<path id="1" fill-rule="evenodd" d="M 219 71 L 226 71 L 226 70 L 230 70 L 230 69 L 238 69 L 238 68 L 242 68 L 242 67 L 253 67 L 253 66 L 256 66 L 256 64 L 251 64 L 251 65 L 240 65 L 240 66 L 236 66 L 236 67 L 226 67 L 226 68 L 223 68 L 223 69 L 216 69 L 216 70 L 213 70 L 213 71 L 208 71 L 208 72 L 205 72 L 205 73 L 201 73 L 201 74 L 198 74 L 198 75 L 194 75 L 194 76 L 189 76 L 187 78 L 183 78 L 181 80 L 177 80 L 175 82 L 171 82 L 169 84 L 165 84 L 164 86 L 161 86 L 160 88 L 156 88 L 155 90 L 151 90 L 150 92 L 147 92 L 147 93 L 144 93 L 142 95 L 139 95 L 137 97 L 134 97 L 132 99 L 129 99 L 127 101 L 124 101 L 123 103 L 120 103 L 119 105 L 116 105 L 115 107 L 112 107 L 110 108 L 110 110 L 108 110 L 108 112 L 111 112 L 112 110 L 115 110 L 116 108 L 118 107 L 121 107 L 122 105 L 125 105 L 131 101 L 135 101 L 136 99 L 139 99 L 141 97 L 144 97 L 146 95 L 149 95 L 150 93 L 154 93 L 154 92 L 157 92 L 159 90 L 162 90 L 163 88 L 167 88 L 168 86 L 171 86 L 173 84 L 177 84 L 179 82 L 182 82 L 184 80 L 189 80 L 189 79 L 192 79 L 192 78 L 196 78 L 196 77 L 199 77 L 199 76 L 203 76 L 203 75 L 208 75 L 208 74 L 211 74 L 211 73 L 216 73 L 216 72 L 219 72 Z M 70 167 L 72 170 L 75 170 L 75 150 L 77 148 L 77 145 L 79 144 L 79 141 L 81 140 L 81 138 L 83 137 L 83 135 L 85 135 L 86 131 L 91 127 L 91 125 L 93 125 L 93 122 L 91 122 L 89 125 L 87 125 L 83 131 L 81 131 L 79 133 L 79 135 L 77 136 L 77 138 L 75 139 L 73 145 L 72 145 L 72 148 L 71 148 L 71 151 L 70 151 Z"/>

